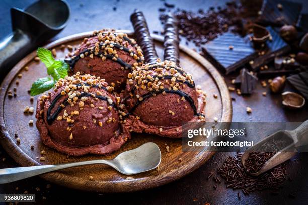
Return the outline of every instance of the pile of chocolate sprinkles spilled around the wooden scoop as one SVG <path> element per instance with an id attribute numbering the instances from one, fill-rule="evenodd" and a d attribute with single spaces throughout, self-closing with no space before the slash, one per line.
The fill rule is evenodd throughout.
<path id="1" fill-rule="evenodd" d="M 286 179 L 284 164 L 278 165 L 259 176 L 251 176 L 242 166 L 241 157 L 242 153 L 238 153 L 234 158 L 228 157 L 217 170 L 217 173 L 225 179 L 227 188 L 241 189 L 244 194 L 249 194 L 256 190 L 279 189 Z M 260 158 L 260 155 L 252 153 L 248 158 L 248 163 L 264 164 L 267 157 Z M 259 165 L 254 165 L 254 167 L 259 167 Z"/>

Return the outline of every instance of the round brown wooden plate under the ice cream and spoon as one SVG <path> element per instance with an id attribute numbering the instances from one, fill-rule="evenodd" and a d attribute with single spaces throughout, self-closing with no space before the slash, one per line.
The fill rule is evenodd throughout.
<path id="1" fill-rule="evenodd" d="M 130 35 L 131 31 L 124 31 Z M 56 58 L 64 58 L 68 49 L 61 50 L 60 46 L 78 45 L 82 39 L 92 32 L 86 32 L 68 36 L 59 39 L 45 46 L 48 49 L 55 48 L 57 51 Z M 163 56 L 162 37 L 153 34 L 156 49 L 160 57 Z M 217 117 L 219 121 L 229 122 L 232 118 L 232 105 L 227 86 L 218 73 L 218 71 L 206 59 L 198 53 L 180 46 L 181 49 L 181 66 L 191 73 L 196 85 L 201 85 L 202 89 L 207 93 L 207 105 L 205 108 L 205 116 L 207 121 L 213 121 Z M 214 152 L 182 152 L 181 140 L 162 138 L 154 135 L 135 134 L 120 150 L 110 156 L 87 155 L 83 157 L 69 157 L 50 149 L 42 144 L 40 135 L 35 124 L 29 125 L 29 120 L 34 120 L 35 114 L 24 114 L 23 110 L 26 106 L 35 108 L 36 100 L 30 102 L 30 94 L 27 92 L 32 83 L 40 77 L 46 77 L 46 68 L 42 62 L 34 61 L 36 51 L 32 52 L 21 60 L 13 70 L 6 76 L 1 85 L 0 91 L 0 128 L 1 143 L 9 155 L 16 160 L 21 166 L 35 166 L 47 164 L 60 164 L 84 160 L 94 159 L 111 159 L 119 153 L 136 148 L 145 142 L 155 142 L 161 149 L 162 162 L 159 170 L 152 170 L 141 174 L 136 174 L 126 179 L 127 176 L 118 173 L 114 169 L 106 165 L 88 165 L 75 168 L 69 168 L 57 172 L 41 175 L 42 178 L 56 184 L 61 184 L 70 188 L 76 188 L 86 191 L 97 192 L 128 192 L 157 187 L 194 171 L 204 164 Z M 29 70 L 24 69 L 25 66 Z M 18 76 L 22 74 L 22 77 Z M 19 82 L 19 83 L 17 83 Z M 10 98 L 8 91 L 16 88 L 16 97 Z M 213 94 L 217 94 L 218 98 L 214 98 Z M 16 142 L 15 134 L 21 139 L 20 143 Z M 31 145 L 34 149 L 31 150 Z M 169 152 L 166 150 L 169 146 Z M 44 155 L 45 161 L 41 161 L 40 152 L 46 151 Z M 179 158 L 183 160 L 180 161 Z M 93 179 L 90 180 L 89 177 Z"/>

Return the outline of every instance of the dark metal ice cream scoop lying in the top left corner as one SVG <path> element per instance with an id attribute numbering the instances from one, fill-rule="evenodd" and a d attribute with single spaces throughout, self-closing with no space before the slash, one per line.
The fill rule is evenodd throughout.
<path id="1" fill-rule="evenodd" d="M 11 8 L 13 33 L 0 40 L 0 76 L 66 26 L 69 7 L 62 0 L 40 0 L 26 9 Z"/>

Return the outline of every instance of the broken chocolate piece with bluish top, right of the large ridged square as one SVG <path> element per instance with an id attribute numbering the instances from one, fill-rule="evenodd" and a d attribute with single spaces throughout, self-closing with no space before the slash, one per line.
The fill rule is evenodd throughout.
<path id="1" fill-rule="evenodd" d="M 260 66 L 268 64 L 276 56 L 283 55 L 291 50 L 291 47 L 284 42 L 284 40 L 279 36 L 272 27 L 266 27 L 270 32 L 272 39 L 265 43 L 265 54 L 254 59 L 251 65 L 253 71 L 259 69 Z"/>

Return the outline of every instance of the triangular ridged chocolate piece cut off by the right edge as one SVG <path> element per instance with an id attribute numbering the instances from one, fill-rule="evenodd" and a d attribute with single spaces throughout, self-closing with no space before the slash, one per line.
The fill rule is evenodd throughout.
<path id="1" fill-rule="evenodd" d="M 287 81 L 308 99 L 308 72 L 301 72 L 287 77 Z"/>

